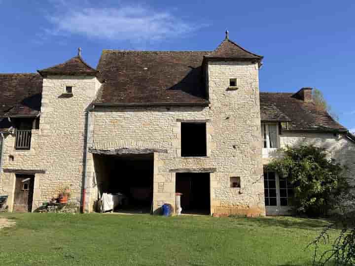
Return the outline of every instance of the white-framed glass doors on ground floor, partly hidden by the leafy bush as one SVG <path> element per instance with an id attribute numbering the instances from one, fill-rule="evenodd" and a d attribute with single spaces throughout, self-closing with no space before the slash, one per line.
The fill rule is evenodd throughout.
<path id="1" fill-rule="evenodd" d="M 286 177 L 280 177 L 272 171 L 265 171 L 264 196 L 266 208 L 290 206 L 293 186 Z"/>

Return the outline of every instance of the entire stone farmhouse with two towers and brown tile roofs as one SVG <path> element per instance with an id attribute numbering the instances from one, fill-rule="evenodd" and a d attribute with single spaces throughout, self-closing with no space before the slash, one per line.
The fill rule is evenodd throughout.
<path id="1" fill-rule="evenodd" d="M 103 193 L 127 211 L 286 214 L 292 188 L 264 165 L 313 143 L 355 177 L 355 136 L 312 88 L 260 93 L 263 57 L 226 38 L 214 51 L 104 50 L 38 73 L 0 74 L 0 196 L 34 211 L 64 187 L 92 212 Z M 123 197 L 122 196 L 122 197 Z"/>

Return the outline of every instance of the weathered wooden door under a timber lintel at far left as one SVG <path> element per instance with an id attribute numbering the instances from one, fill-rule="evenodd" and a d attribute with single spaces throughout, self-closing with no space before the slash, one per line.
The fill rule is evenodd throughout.
<path id="1" fill-rule="evenodd" d="M 33 193 L 34 193 L 35 175 L 16 174 L 14 212 L 31 212 Z"/>

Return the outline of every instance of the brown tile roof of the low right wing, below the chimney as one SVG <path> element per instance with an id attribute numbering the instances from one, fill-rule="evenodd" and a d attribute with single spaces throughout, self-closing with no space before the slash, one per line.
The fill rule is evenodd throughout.
<path id="1" fill-rule="evenodd" d="M 316 106 L 313 102 L 292 97 L 293 93 L 260 93 L 260 105 L 262 112 L 267 113 L 265 106 L 274 105 L 280 112 L 291 121 L 288 123 L 289 130 L 320 130 L 346 131 L 346 128 L 336 122 L 325 110 Z"/>

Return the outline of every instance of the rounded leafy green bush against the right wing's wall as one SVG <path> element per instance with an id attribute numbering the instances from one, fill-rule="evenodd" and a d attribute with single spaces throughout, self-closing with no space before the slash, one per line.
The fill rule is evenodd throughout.
<path id="1" fill-rule="evenodd" d="M 291 203 L 299 214 L 325 216 L 349 191 L 343 167 L 327 158 L 325 149 L 313 145 L 286 147 L 283 156 L 267 168 L 287 177 L 294 186 Z"/>

